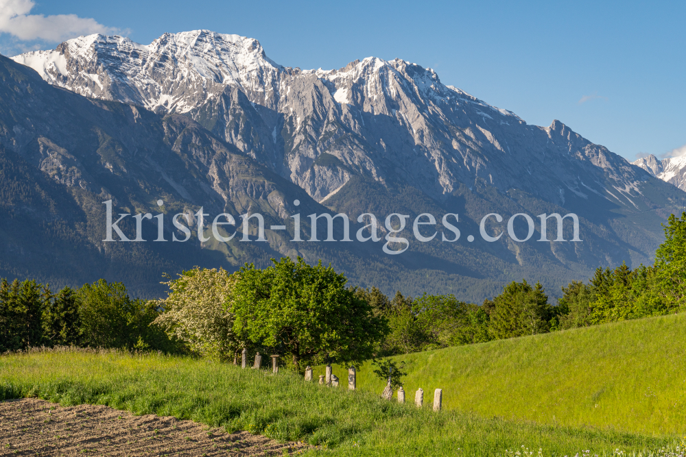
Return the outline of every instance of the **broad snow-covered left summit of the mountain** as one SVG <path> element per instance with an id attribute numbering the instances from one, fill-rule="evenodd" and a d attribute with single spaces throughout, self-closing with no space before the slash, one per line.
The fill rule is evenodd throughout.
<path id="1" fill-rule="evenodd" d="M 201 106 L 225 86 L 268 104 L 280 69 L 257 40 L 204 30 L 164 34 L 147 46 L 121 36 L 81 36 L 13 59 L 85 97 L 169 113 Z"/>

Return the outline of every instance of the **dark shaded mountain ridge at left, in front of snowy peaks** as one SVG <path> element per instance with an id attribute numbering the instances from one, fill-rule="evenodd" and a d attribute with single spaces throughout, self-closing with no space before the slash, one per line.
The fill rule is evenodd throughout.
<path id="1" fill-rule="evenodd" d="M 118 213 L 164 213 L 167 240 L 185 238 L 173 230 L 172 213 L 185 212 L 197 231 L 201 206 L 213 217 L 261 212 L 268 224 L 292 210 L 285 195 L 317 206 L 186 116 L 86 99 L 3 57 L 0 79 L 0 277 L 36 277 L 53 286 L 106 277 L 150 296 L 161 291 L 165 271 L 217 266 L 214 246 L 195 236 L 188 243 L 104 243 L 102 201 L 109 199 Z M 130 221 L 120 225 L 134 237 Z M 153 229 L 145 225 L 144 239 L 155 238 Z M 272 236 L 274 245 L 287 238 Z M 266 264 L 276 254 L 267 243 L 263 248 L 246 245 L 241 252 Z M 224 257 L 224 267 L 239 264 L 232 258 Z"/>

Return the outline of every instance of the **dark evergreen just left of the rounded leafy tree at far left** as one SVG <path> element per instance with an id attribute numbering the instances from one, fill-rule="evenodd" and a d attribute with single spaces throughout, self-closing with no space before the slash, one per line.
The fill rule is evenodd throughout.
<path id="1" fill-rule="evenodd" d="M 78 345 L 80 327 L 78 294 L 65 287 L 43 310 L 43 336 L 50 345 Z"/>

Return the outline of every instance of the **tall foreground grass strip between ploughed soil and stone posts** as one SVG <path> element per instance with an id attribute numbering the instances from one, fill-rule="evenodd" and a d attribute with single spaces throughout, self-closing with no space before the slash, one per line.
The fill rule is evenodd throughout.
<path id="1" fill-rule="evenodd" d="M 311 454 L 327 456 L 504 456 L 507 449 L 522 446 L 534 454 L 542 449 L 544 456 L 581 456 L 586 449 L 603 456 L 614 449 L 631 453 L 674 446 L 679 439 L 536 425 L 458 410 L 435 413 L 386 402 L 375 393 L 305 383 L 293 373 L 273 376 L 155 354 L 32 351 L 0 356 L 0 399 L 17 397 L 173 415 L 227 431 L 307 441 L 321 447 Z"/>

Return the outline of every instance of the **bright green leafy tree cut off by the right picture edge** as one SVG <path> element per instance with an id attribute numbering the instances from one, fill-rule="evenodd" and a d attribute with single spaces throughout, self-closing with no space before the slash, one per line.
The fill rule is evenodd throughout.
<path id="1" fill-rule="evenodd" d="M 659 294 L 669 308 L 683 310 L 686 305 L 686 212 L 681 218 L 671 214 L 663 224 L 665 240 L 655 252 L 655 275 Z"/>

